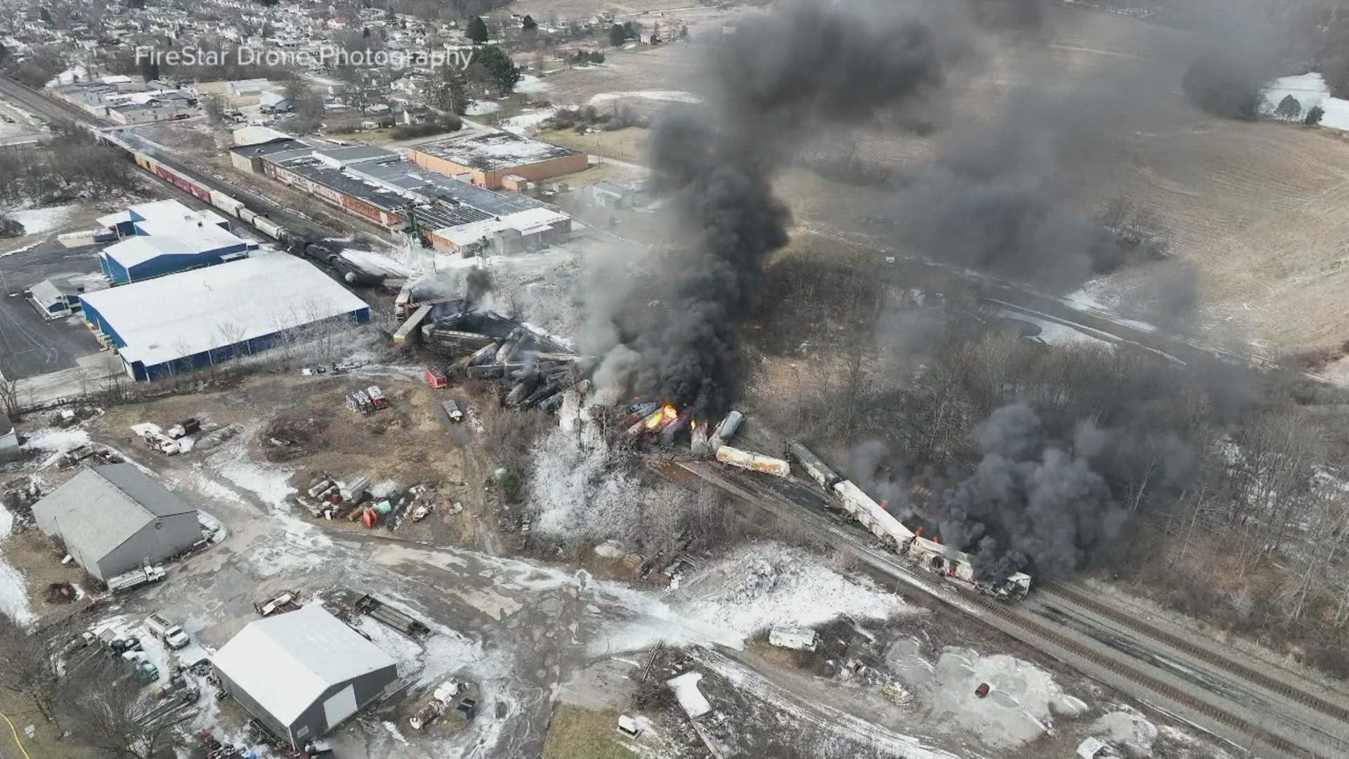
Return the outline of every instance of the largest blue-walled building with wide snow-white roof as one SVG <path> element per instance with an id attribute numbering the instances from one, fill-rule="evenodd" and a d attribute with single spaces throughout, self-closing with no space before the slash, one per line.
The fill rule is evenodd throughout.
<path id="1" fill-rule="evenodd" d="M 282 253 L 86 293 L 82 304 L 85 319 L 136 380 L 370 320 L 363 300 L 312 263 Z"/>

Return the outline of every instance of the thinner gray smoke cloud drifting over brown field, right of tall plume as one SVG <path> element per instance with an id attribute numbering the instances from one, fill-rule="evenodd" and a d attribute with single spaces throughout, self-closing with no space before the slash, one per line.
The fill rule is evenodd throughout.
<path id="1" fill-rule="evenodd" d="M 889 208 L 900 244 L 1054 292 L 1156 255 L 1149 240 L 1106 228 L 1070 182 L 1072 161 L 1106 149 L 1152 86 L 1109 76 L 1059 84 L 1054 95 L 1017 93 L 993 124 L 942 143 Z"/>

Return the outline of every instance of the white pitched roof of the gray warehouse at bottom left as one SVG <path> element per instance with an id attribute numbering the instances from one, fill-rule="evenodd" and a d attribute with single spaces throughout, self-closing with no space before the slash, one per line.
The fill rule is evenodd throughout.
<path id="1" fill-rule="evenodd" d="M 210 663 L 287 725 L 329 687 L 397 666 L 378 646 L 314 605 L 248 623 Z"/>

